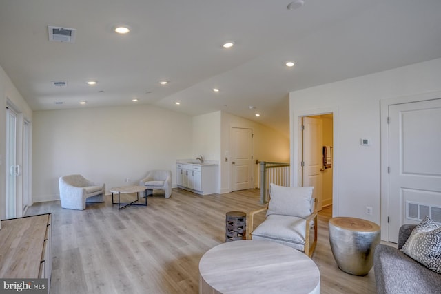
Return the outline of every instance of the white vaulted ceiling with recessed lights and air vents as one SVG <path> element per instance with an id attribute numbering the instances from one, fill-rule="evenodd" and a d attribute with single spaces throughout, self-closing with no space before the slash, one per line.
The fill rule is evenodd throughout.
<path id="1" fill-rule="evenodd" d="M 288 136 L 289 92 L 441 57 L 440 0 L 289 3 L 1 0 L 0 65 L 34 110 L 223 110 Z M 48 41 L 48 25 L 74 43 Z"/>

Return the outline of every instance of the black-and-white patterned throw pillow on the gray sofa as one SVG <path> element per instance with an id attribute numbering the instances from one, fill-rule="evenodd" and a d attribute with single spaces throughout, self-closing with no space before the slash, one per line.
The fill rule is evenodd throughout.
<path id="1" fill-rule="evenodd" d="M 424 218 L 401 251 L 435 273 L 441 273 L 441 227 L 429 217 Z"/>

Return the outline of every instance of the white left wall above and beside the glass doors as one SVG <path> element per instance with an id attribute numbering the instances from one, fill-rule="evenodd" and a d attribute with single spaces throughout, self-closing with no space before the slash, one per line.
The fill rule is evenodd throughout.
<path id="1" fill-rule="evenodd" d="M 10 78 L 0 67 L 0 218 L 5 218 L 5 205 L 6 205 L 6 101 L 9 99 L 14 106 L 21 112 L 23 118 L 32 122 L 32 110 L 25 102 L 21 94 L 17 91 L 17 88 L 12 84 Z M 22 140 L 22 138 L 17 138 Z M 22 165 L 23 156 L 19 154 L 19 165 Z M 19 189 L 19 191 L 22 191 Z"/>

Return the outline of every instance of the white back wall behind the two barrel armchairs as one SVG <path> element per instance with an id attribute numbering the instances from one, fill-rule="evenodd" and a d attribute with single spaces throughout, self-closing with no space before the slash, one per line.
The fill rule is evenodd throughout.
<path id="1" fill-rule="evenodd" d="M 192 156 L 192 118 L 151 105 L 34 112 L 34 202 L 59 199 L 58 180 L 82 174 L 106 189 Z"/>

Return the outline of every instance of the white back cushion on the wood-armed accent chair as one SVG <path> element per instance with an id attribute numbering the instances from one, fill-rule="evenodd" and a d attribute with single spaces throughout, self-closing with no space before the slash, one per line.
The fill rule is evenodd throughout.
<path id="1" fill-rule="evenodd" d="M 283 187 L 270 185 L 270 200 L 267 216 L 282 214 L 307 218 L 311 211 L 311 196 L 314 187 Z"/>

